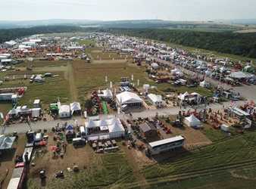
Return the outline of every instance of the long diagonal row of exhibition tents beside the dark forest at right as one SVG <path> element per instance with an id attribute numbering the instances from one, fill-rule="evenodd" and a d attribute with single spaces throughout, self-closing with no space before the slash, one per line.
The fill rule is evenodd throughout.
<path id="1" fill-rule="evenodd" d="M 212 56 L 207 57 L 206 55 L 190 54 L 181 48 L 170 48 L 162 43 L 150 42 L 135 37 L 99 33 L 98 41 L 108 44 L 108 48 L 130 52 L 135 57 L 139 56 L 142 59 L 152 60 L 156 58 L 158 60 L 170 60 L 174 64 L 205 76 L 213 78 L 219 78 L 221 76 L 223 79 L 226 78 L 226 80 L 233 79 L 234 81 L 256 82 L 255 76 L 251 74 L 254 73 L 254 67 L 252 67 L 251 62 L 247 62 L 247 65 L 242 67 L 241 62 L 235 64 L 227 58 L 221 59 Z M 240 67 L 237 65 L 240 65 Z M 156 64 L 152 66 L 158 67 Z M 235 69 L 231 70 L 231 68 Z"/>

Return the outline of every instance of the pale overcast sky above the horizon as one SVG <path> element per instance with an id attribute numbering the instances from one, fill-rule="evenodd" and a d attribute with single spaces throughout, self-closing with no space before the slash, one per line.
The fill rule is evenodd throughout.
<path id="1" fill-rule="evenodd" d="M 0 20 L 256 18 L 255 0 L 0 0 Z"/>

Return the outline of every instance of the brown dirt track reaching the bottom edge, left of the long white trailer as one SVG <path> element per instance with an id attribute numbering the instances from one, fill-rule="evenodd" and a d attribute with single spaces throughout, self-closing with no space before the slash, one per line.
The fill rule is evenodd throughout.
<path id="1" fill-rule="evenodd" d="M 148 183 L 147 183 L 144 175 L 142 175 L 142 173 L 140 172 L 139 166 L 136 163 L 136 158 L 133 155 L 133 153 L 126 146 L 125 147 L 122 146 L 121 148 L 126 153 L 128 163 L 130 164 L 130 166 L 133 169 L 134 176 L 137 178 L 136 183 L 139 183 L 139 186 L 141 188 L 148 188 Z"/>

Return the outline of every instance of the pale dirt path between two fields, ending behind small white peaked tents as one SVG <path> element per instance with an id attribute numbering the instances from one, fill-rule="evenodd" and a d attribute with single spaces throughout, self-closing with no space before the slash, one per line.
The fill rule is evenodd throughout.
<path id="1" fill-rule="evenodd" d="M 73 66 L 72 63 L 68 62 L 67 64 L 67 73 L 65 73 L 65 78 L 68 80 L 70 85 L 70 98 L 71 101 L 77 101 L 78 99 L 78 92 L 76 88 L 76 82 L 73 77 Z"/>

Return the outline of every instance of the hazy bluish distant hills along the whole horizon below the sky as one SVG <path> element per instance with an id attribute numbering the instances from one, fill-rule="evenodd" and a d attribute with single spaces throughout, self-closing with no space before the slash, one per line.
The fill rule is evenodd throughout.
<path id="1" fill-rule="evenodd" d="M 237 21 L 239 22 L 239 21 Z M 242 22 L 242 20 L 240 21 Z M 236 23 L 236 20 L 233 20 Z M 253 20 L 251 20 L 253 23 Z M 256 20 L 255 20 L 256 23 Z M 24 21 L 1 21 L 0 29 L 14 29 L 14 28 L 28 28 L 34 26 L 83 26 L 83 27 L 101 27 L 101 28 L 167 28 L 167 29 L 195 29 L 202 31 L 234 29 L 230 26 L 231 20 L 225 21 L 205 21 L 205 22 L 192 22 L 192 21 L 170 21 L 170 20 L 65 20 L 65 19 L 52 19 L 52 20 L 24 20 Z M 231 28 L 230 28 L 231 27 Z"/>

